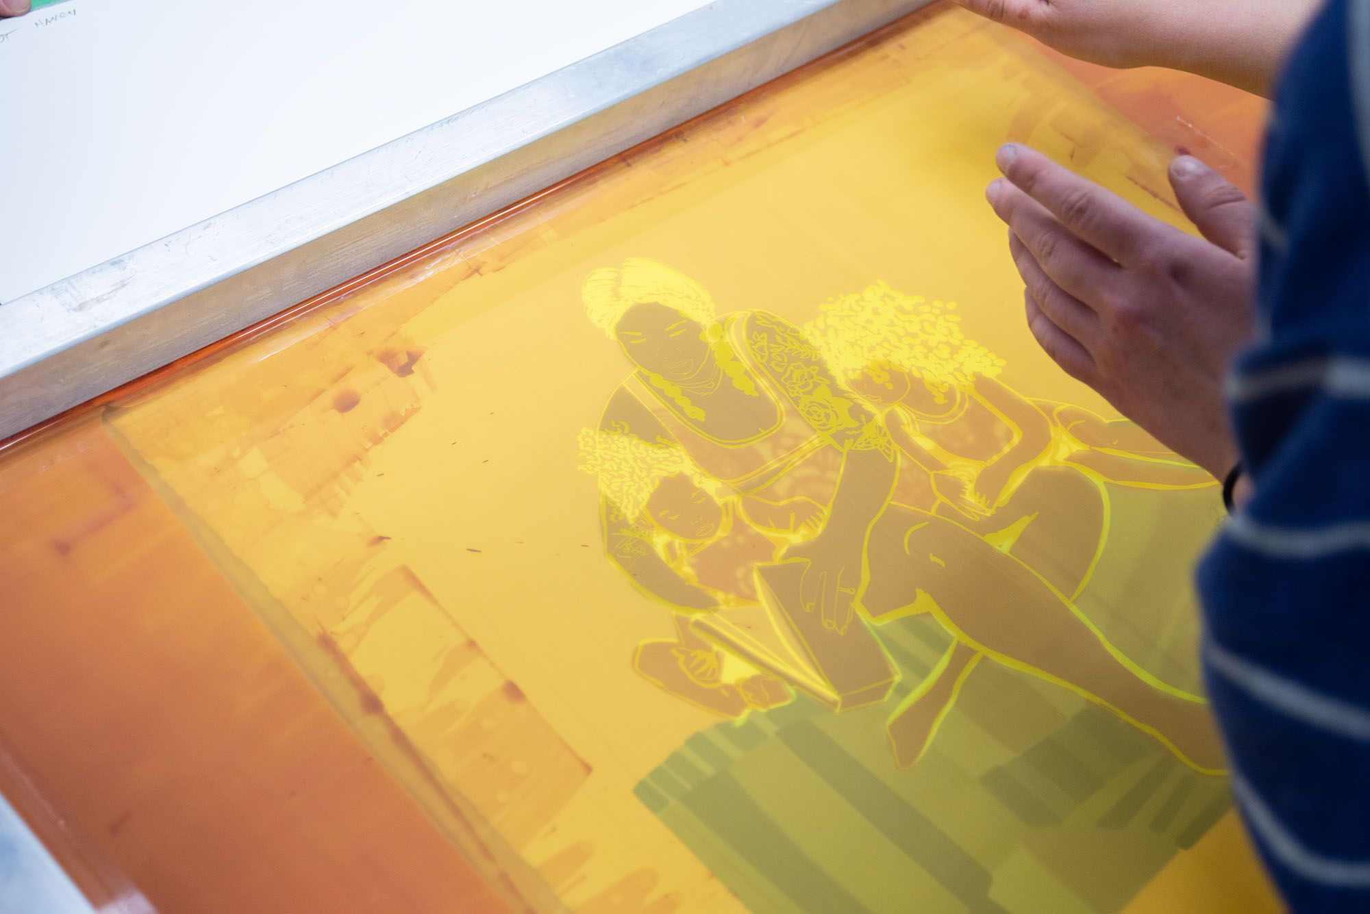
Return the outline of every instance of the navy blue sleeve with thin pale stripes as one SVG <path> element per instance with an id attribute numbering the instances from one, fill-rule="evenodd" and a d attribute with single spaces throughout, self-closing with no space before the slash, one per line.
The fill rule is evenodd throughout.
<path id="1" fill-rule="evenodd" d="M 1237 806 L 1296 910 L 1370 911 L 1370 0 L 1285 66 L 1259 339 L 1230 382 L 1255 495 L 1199 569 Z"/>

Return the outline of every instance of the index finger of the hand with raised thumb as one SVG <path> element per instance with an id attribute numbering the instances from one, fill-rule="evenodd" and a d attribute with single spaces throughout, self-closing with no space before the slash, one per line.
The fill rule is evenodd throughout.
<path id="1" fill-rule="evenodd" d="M 1045 207 L 1075 237 L 1125 267 L 1138 259 L 1158 230 L 1169 227 L 1036 149 L 1010 142 L 999 148 L 995 161 L 1012 185 Z"/>

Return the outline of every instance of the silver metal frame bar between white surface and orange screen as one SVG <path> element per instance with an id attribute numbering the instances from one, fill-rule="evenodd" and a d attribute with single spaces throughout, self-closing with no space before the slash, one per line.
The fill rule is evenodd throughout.
<path id="1" fill-rule="evenodd" d="M 0 441 L 703 114 L 930 0 L 718 0 L 0 304 Z"/>

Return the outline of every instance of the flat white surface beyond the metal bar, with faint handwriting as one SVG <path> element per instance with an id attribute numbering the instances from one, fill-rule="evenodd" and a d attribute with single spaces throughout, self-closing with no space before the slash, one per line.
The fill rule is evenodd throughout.
<path id="1" fill-rule="evenodd" d="M 0 21 L 0 302 L 704 0 L 67 0 Z"/>

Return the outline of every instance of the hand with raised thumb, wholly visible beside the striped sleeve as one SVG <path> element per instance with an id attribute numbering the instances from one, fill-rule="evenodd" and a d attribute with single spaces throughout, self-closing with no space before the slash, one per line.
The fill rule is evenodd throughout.
<path id="1" fill-rule="evenodd" d="M 1197 159 L 1170 182 L 1203 238 L 1167 226 L 1026 146 L 986 192 L 1008 223 L 1028 326 L 1066 374 L 1222 478 L 1237 447 L 1222 397 L 1252 334 L 1255 213 Z"/>

